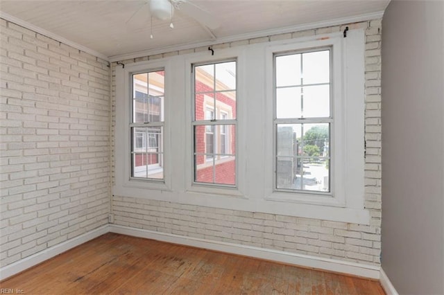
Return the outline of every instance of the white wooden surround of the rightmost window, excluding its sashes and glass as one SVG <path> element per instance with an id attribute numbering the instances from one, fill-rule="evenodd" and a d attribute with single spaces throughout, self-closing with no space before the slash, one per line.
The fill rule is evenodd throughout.
<path id="1" fill-rule="evenodd" d="M 286 204 L 299 204 L 297 211 L 312 212 L 311 205 L 343 208 L 330 210 L 332 215 L 341 211 L 357 211 L 366 220 L 364 208 L 364 33 L 354 30 L 344 38 L 340 33 L 330 34 L 328 38 L 307 38 L 303 42 L 282 42 L 266 49 L 267 80 L 273 81 L 275 53 L 284 51 L 309 51 L 310 48 L 332 47 L 332 117 L 330 125 L 330 185 L 331 194 L 316 192 L 283 192 L 275 190 L 275 161 L 270 157 L 266 163 L 266 181 L 264 190 L 266 199 Z M 274 97 L 275 85 L 267 84 L 267 95 Z M 267 103 L 268 132 L 273 134 L 275 100 Z M 268 145 L 266 150 L 275 147 Z M 359 212 L 358 212 L 359 211 Z M 316 214 L 317 215 L 317 214 Z M 322 218 L 322 217 L 321 217 Z M 352 218 L 352 217 L 350 217 Z"/>

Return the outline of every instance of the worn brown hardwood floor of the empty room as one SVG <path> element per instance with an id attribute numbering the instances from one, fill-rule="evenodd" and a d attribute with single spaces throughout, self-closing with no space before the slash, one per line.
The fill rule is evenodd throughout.
<path id="1" fill-rule="evenodd" d="M 379 282 L 107 233 L 21 274 L 24 294 L 384 294 Z"/>

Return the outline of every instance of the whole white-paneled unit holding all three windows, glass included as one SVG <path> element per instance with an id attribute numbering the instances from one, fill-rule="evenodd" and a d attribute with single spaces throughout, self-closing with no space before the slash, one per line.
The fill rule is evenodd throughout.
<path id="1" fill-rule="evenodd" d="M 369 224 L 365 44 L 351 29 L 115 66 L 112 193 Z"/>

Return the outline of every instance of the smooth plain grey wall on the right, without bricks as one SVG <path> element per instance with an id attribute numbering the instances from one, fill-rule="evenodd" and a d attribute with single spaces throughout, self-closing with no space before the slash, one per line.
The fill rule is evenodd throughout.
<path id="1" fill-rule="evenodd" d="M 442 1 L 383 19 L 382 267 L 401 294 L 444 294 Z"/>

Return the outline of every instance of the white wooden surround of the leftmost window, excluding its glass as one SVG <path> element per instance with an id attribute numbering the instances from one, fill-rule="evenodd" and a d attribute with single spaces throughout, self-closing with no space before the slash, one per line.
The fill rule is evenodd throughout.
<path id="1" fill-rule="evenodd" d="M 131 128 L 133 116 L 133 100 L 131 93 L 133 92 L 133 74 L 157 71 L 162 69 L 165 71 L 164 80 L 164 121 L 162 122 L 163 137 L 163 154 L 162 157 L 163 179 L 151 179 L 142 177 L 131 177 Z M 155 62 L 142 62 L 137 64 L 126 64 L 125 67 L 116 67 L 116 140 L 114 142 L 116 156 L 115 158 L 115 186 L 116 193 L 125 194 L 127 188 L 135 189 L 158 189 L 171 190 L 171 159 L 170 159 L 170 123 L 169 123 L 169 87 L 171 78 L 171 63 L 167 60 L 159 60 Z M 117 82 L 119 81 L 119 82 Z M 119 137 L 118 137 L 119 136 Z M 148 140 L 148 138 L 145 138 Z M 160 159 L 159 159 L 160 160 Z M 160 160 L 161 161 L 161 160 Z"/>

